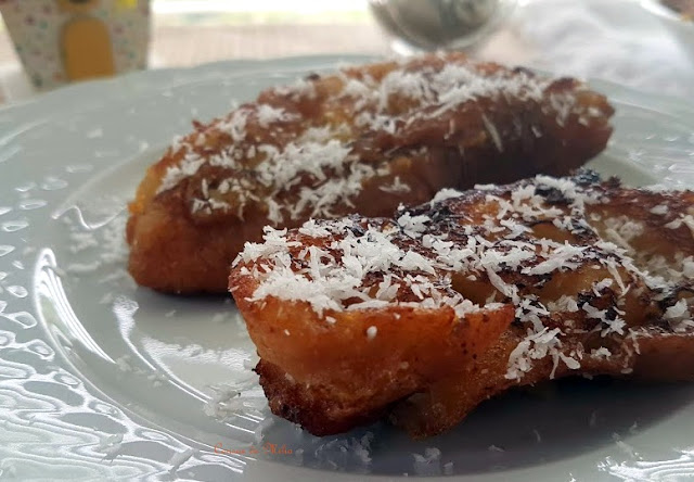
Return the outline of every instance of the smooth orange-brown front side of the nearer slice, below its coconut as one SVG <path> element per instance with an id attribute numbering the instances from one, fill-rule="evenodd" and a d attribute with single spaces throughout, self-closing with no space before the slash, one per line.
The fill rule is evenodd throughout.
<path id="1" fill-rule="evenodd" d="M 513 319 L 510 306 L 464 319 L 450 307 L 323 316 L 306 302 L 253 301 L 257 288 L 252 277 L 234 282 L 239 309 L 262 359 L 256 367 L 260 383 L 274 414 L 317 435 L 372 421 L 442 373 L 460 373 Z M 372 339 L 370 329 L 377 333 Z"/>

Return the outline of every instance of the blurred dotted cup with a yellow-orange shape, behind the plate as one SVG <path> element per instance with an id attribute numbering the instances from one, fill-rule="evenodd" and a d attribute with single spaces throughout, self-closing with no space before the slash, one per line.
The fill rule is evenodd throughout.
<path id="1" fill-rule="evenodd" d="M 146 66 L 150 0 L 0 0 L 0 12 L 38 89 Z"/>

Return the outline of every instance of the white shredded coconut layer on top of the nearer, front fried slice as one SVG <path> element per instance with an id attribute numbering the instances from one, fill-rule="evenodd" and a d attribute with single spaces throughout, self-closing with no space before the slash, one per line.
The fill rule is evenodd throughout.
<path id="1" fill-rule="evenodd" d="M 645 334 L 628 325 L 628 297 L 633 303 L 648 292 L 665 305 L 657 322 L 693 331 L 694 296 L 668 296 L 694 275 L 694 262 L 680 255 L 685 272 L 666 280 L 631 257 L 631 248 L 601 239 L 599 231 L 612 229 L 631 246 L 645 227 L 627 215 L 591 216 L 608 205 L 612 189 L 591 176 L 538 176 L 471 193 L 446 190 L 432 203 L 398 210 L 391 220 L 355 216 L 309 220 L 293 232 L 266 228 L 265 242 L 246 243 L 234 263 L 254 262 L 243 268 L 258 282 L 252 301 L 307 302 L 329 325 L 337 322 L 335 313 L 357 309 L 450 307 L 462 319 L 483 309 L 471 299 L 487 300 L 489 310 L 512 304 L 520 341 L 509 356 L 510 380 L 520 380 L 543 358 L 551 360 L 554 377 L 579 369 L 584 356 L 617 356 L 607 346 L 584 353 L 571 341 L 588 332 L 599 340 L 629 340 L 629 370 L 638 338 Z M 652 195 L 663 198 L 658 205 L 671 200 Z M 539 234 L 545 226 L 551 230 Z M 565 292 L 543 294 L 553 286 Z M 373 340 L 376 333 L 372 326 L 365 334 Z"/>

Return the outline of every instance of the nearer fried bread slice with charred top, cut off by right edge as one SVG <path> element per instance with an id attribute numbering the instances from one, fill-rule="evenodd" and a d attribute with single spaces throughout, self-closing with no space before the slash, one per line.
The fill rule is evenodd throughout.
<path id="1" fill-rule="evenodd" d="M 463 193 L 445 190 L 394 219 L 352 217 L 311 221 L 288 233 L 268 231 L 265 243 L 249 243 L 241 253 L 230 289 L 258 348 L 256 370 L 273 413 L 316 434 L 388 413 L 413 436 L 428 436 L 450 429 L 494 394 L 542 380 L 570 375 L 693 380 L 693 214 L 690 191 L 627 189 L 615 179 L 600 182 L 591 173 L 538 176 Z M 291 243 L 299 244 L 287 248 Z M 411 270 L 401 271 L 400 265 Z M 332 274 L 350 275 L 345 278 L 349 290 L 343 291 L 336 282 L 345 279 Z M 335 380 L 348 383 L 344 377 L 351 373 L 331 371 L 313 381 L 308 368 L 297 379 L 297 365 L 278 355 L 285 350 L 281 340 L 259 334 L 285 322 L 308 322 L 327 332 L 356 322 L 362 337 L 331 350 L 344 367 L 357 367 L 361 346 L 383 335 L 386 347 L 398 333 L 382 333 L 382 322 L 397 327 L 403 303 L 440 303 L 441 286 L 457 300 L 451 304 L 466 307 L 461 319 L 505 308 L 513 321 L 496 340 L 485 337 L 479 346 L 487 347 L 453 372 L 436 367 L 415 392 L 364 419 L 331 413 L 334 404 L 342 410 L 352 407 L 349 397 L 337 402 L 332 390 Z M 294 308 L 297 303 L 303 312 Z M 354 314 L 352 303 L 360 307 L 358 315 L 342 318 Z M 370 340 L 363 320 L 376 307 Z M 325 322 L 329 317 L 333 324 Z M 419 330 L 432 328 L 422 321 Z M 450 337 L 445 330 L 439 334 Z M 322 337 L 303 333 L 292 352 L 320 366 L 321 356 L 313 354 Z M 416 330 L 407 337 L 417 345 Z M 388 392 L 408 377 L 404 369 L 388 384 L 378 370 L 377 364 L 359 366 L 357 386 L 378 380 L 377 391 Z"/>

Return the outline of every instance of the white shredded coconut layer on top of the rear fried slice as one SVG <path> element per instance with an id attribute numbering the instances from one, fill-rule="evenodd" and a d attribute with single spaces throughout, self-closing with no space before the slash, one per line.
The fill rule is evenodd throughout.
<path id="1" fill-rule="evenodd" d="M 221 213 L 243 219 L 260 212 L 274 227 L 309 216 L 337 217 L 346 213 L 339 207 L 354 207 L 367 182 L 403 199 L 412 191 L 404 176 L 391 172 L 398 155 L 367 160 L 373 145 L 360 147 L 362 137 L 407 138 L 417 123 L 436 123 L 444 116 L 450 117 L 450 137 L 463 129 L 455 113 L 479 100 L 542 101 L 552 111 L 547 115 L 557 119 L 590 116 L 589 107 L 576 100 L 576 92 L 584 89 L 578 83 L 549 94 L 551 78 L 477 65 L 455 54 L 432 63 L 393 64 L 378 78 L 368 72 L 340 71 L 327 90 L 320 76 L 311 76 L 262 92 L 258 101 L 207 126 L 197 124 L 193 134 L 171 143 L 157 194 L 202 177 L 210 181 L 195 182 L 200 186 L 190 210 L 196 216 Z M 320 112 L 306 114 L 307 102 Z M 504 139 L 492 114 L 489 110 L 480 115 L 478 129 L 502 152 Z M 386 152 L 397 152 L 398 145 L 387 144 Z M 401 148 L 406 156 L 428 155 L 426 144 Z M 454 192 L 441 191 L 434 202 Z"/>

